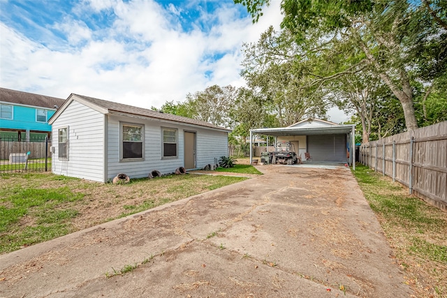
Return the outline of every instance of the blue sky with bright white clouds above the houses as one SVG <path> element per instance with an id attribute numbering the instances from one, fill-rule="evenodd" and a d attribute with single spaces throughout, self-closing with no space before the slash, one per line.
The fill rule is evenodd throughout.
<path id="1" fill-rule="evenodd" d="M 242 87 L 242 44 L 279 29 L 279 6 L 252 24 L 233 0 L 0 0 L 0 87 L 145 108 Z"/>

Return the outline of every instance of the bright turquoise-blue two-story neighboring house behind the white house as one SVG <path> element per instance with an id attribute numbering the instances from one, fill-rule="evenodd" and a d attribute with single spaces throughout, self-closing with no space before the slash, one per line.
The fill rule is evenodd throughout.
<path id="1" fill-rule="evenodd" d="M 48 119 L 64 99 L 0 88 L 1 140 L 36 140 L 51 137 Z"/>

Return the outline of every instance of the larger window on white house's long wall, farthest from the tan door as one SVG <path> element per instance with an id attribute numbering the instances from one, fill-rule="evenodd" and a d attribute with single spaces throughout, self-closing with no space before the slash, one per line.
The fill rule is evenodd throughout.
<path id="1" fill-rule="evenodd" d="M 143 158 L 144 131 L 142 125 L 122 124 L 122 159 Z"/>

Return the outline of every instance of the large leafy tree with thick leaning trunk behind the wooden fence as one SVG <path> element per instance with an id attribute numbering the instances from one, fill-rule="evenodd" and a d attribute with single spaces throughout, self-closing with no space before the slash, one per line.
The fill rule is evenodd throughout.
<path id="1" fill-rule="evenodd" d="M 261 7 L 270 3 L 269 0 L 235 2 L 247 6 L 254 21 L 261 15 Z M 317 33 L 319 37 L 314 38 L 314 41 L 317 43 L 316 48 L 320 48 L 321 56 L 328 57 L 328 51 L 345 45 L 347 67 L 338 68 L 336 65 L 332 74 L 324 74 L 325 79 L 346 73 L 346 69 L 359 69 L 359 66 L 365 65 L 371 67 L 400 100 L 406 128 L 413 130 L 418 127 L 410 84 L 413 75 L 411 68 L 418 59 L 416 49 L 432 45 L 437 40 L 436 36 L 444 36 L 446 33 L 441 27 L 444 26 L 446 14 L 441 14 L 442 10 L 432 9 L 433 5 L 435 8 L 444 7 L 445 3 L 442 4 L 440 0 L 435 4 L 428 0 L 424 3 L 423 6 L 422 3 L 404 0 L 283 0 L 281 10 L 284 20 L 281 27 L 293 33 L 299 45 L 305 43 L 309 34 L 315 36 Z M 434 22 L 430 9 L 441 21 Z M 332 43 L 333 47 L 321 47 L 328 43 Z M 360 61 L 356 59 L 359 51 L 365 56 Z M 438 46 L 434 52 L 445 54 L 445 47 Z M 441 56 L 436 57 L 432 52 L 430 59 L 425 60 L 437 60 L 434 65 L 439 66 L 439 61 L 443 61 Z"/>

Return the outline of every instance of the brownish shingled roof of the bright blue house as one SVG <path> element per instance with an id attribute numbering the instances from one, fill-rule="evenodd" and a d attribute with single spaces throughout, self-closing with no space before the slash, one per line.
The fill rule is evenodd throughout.
<path id="1" fill-rule="evenodd" d="M 60 107 L 65 100 L 40 94 L 16 91 L 6 88 L 0 88 L 0 101 L 6 103 L 15 103 L 17 105 L 32 105 L 34 107 L 45 107 L 54 110 L 54 105 Z"/>

